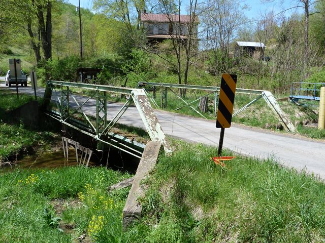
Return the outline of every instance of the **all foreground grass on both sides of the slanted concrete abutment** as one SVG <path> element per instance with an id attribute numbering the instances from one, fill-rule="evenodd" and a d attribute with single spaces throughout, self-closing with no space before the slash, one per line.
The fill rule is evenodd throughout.
<path id="1" fill-rule="evenodd" d="M 271 159 L 172 142 L 143 183 L 144 217 L 122 230 L 129 174 L 105 168 L 15 170 L 0 177 L 0 242 L 323 242 L 325 185 Z M 230 154 L 225 151 L 224 154 Z"/>

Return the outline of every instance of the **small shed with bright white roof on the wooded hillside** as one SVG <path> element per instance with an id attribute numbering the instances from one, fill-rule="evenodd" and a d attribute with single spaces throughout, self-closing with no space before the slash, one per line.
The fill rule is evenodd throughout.
<path id="1" fill-rule="evenodd" d="M 235 57 L 259 55 L 259 58 L 264 57 L 265 45 L 262 42 L 236 42 Z"/>

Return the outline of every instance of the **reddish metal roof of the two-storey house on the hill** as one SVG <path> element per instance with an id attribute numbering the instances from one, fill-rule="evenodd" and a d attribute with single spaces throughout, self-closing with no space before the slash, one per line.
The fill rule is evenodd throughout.
<path id="1" fill-rule="evenodd" d="M 190 22 L 191 18 L 189 15 L 177 15 L 177 14 L 147 14 L 141 13 L 140 19 L 142 22 L 181 22 L 187 23 Z M 196 17 L 195 22 L 199 22 L 199 18 Z"/>

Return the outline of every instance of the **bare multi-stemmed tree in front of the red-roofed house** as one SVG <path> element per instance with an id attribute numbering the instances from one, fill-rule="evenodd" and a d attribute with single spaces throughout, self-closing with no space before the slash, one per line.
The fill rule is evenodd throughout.
<path id="1" fill-rule="evenodd" d="M 188 71 L 191 65 L 195 62 L 195 57 L 198 55 L 198 25 L 200 11 L 198 8 L 198 0 L 190 0 L 187 16 L 181 16 L 182 2 L 159 0 L 157 10 L 163 13 L 172 29 L 170 33 L 170 43 L 163 45 L 148 46 L 143 48 L 150 53 L 153 53 L 165 60 L 171 68 L 177 73 L 178 84 L 186 85 L 188 82 Z M 184 21 L 184 19 L 186 21 Z M 166 54 L 166 57 L 165 55 Z M 169 58 L 168 54 L 176 56 L 176 62 L 173 58 Z M 179 89 L 179 95 L 185 97 L 186 90 Z"/>

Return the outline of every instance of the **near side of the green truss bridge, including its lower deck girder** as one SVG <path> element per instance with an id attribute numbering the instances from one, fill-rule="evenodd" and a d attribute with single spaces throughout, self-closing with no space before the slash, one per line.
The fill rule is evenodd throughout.
<path id="1" fill-rule="evenodd" d="M 93 95 L 82 103 L 80 101 L 78 102 L 73 94 L 73 90 L 76 88 L 89 90 Z M 107 93 L 117 93 L 128 97 L 122 108 L 110 121 L 107 120 Z M 56 110 L 50 108 L 52 94 L 56 96 Z M 87 115 L 83 109 L 91 98 L 96 100 L 95 117 Z M 145 148 L 144 144 L 111 132 L 120 117 L 133 103 L 137 107 L 150 139 L 160 142 L 164 145 L 165 151 L 170 152 L 170 145 L 166 141 L 163 129 L 161 129 L 143 89 L 48 81 L 44 93 L 44 107 L 46 108 L 45 113 L 47 115 L 66 126 L 94 138 L 98 141 L 98 149 L 105 146 L 113 146 L 121 151 L 141 158 Z"/>

